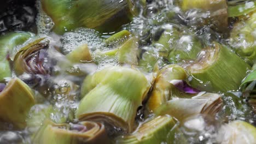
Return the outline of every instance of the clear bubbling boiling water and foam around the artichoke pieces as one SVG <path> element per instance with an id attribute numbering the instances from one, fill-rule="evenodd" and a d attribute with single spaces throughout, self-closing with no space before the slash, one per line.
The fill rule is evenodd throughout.
<path id="1" fill-rule="evenodd" d="M 159 53 L 160 49 L 153 49 L 150 46 L 150 41 L 154 41 L 159 38 L 159 29 L 168 28 L 172 32 L 171 27 L 179 27 L 182 32 L 189 33 L 189 35 L 183 35 L 183 39 L 178 41 L 178 45 L 182 46 L 184 51 L 190 51 L 191 49 L 191 35 L 195 35 L 206 45 L 210 44 L 212 39 L 219 41 L 226 41 L 225 33 L 217 33 L 212 31 L 210 25 L 206 25 L 202 28 L 197 28 L 197 23 L 200 23 L 210 14 L 202 13 L 199 10 L 191 10 L 188 13 L 181 13 L 181 9 L 173 5 L 173 1 L 147 1 L 147 7 L 140 10 L 140 15 L 133 18 L 132 22 L 124 25 L 122 28 L 135 34 L 139 39 L 140 49 L 149 55 L 155 55 Z M 40 2 L 37 2 L 37 10 L 39 14 L 35 18 L 33 8 L 26 5 L 19 7 L 19 10 L 25 11 L 23 15 L 18 15 L 15 12 L 7 11 L 4 15 L 7 15 L 8 20 L 0 20 L 0 32 L 7 32 L 12 30 L 24 30 L 36 32 L 31 23 L 36 22 L 37 32 L 40 35 L 48 35 L 50 39 L 50 46 L 48 50 L 48 61 L 50 64 L 55 64 L 58 61 L 66 62 L 66 54 L 73 51 L 75 47 L 81 44 L 88 44 L 90 52 L 94 61 L 98 65 L 91 63 L 85 65 L 73 65 L 73 71 L 84 71 L 87 74 L 94 73 L 96 70 L 103 69 L 109 65 L 119 65 L 117 57 L 106 57 L 98 55 L 98 51 L 112 50 L 114 47 L 104 44 L 104 38 L 109 37 L 111 34 L 100 34 L 95 30 L 88 28 L 77 28 L 72 32 L 67 32 L 63 36 L 56 35 L 51 30 L 54 27 L 54 22 L 49 16 L 43 13 L 40 8 Z M 139 1 L 136 3 L 136 7 L 142 8 Z M 175 17 L 176 19 L 166 19 L 166 15 Z M 20 18 L 21 17 L 21 18 Z M 21 21 L 21 20 L 25 20 Z M 185 27 L 185 23 L 187 28 Z M 158 26 L 156 26 L 158 25 Z M 35 26 L 35 25 L 34 25 Z M 32 29 L 31 29 L 32 27 Z M 169 41 L 170 44 L 173 41 Z M 187 43 L 187 47 L 183 47 L 184 43 Z M 57 47 L 57 49 L 56 49 Z M 154 52 L 150 52 L 154 51 Z M 161 58 L 158 61 L 160 67 L 166 65 L 165 59 Z M 178 59 L 179 56 L 176 57 Z M 106 60 L 108 59 L 108 60 Z M 153 69 L 154 65 L 147 64 L 148 69 Z M 27 121 L 33 117 L 46 117 L 49 116 L 55 122 L 75 122 L 73 114 L 78 107 L 80 86 L 82 85 L 84 77 L 68 76 L 65 71 L 59 66 L 54 66 L 54 73 L 58 73 L 58 76 L 48 77 L 48 83 L 50 87 L 46 88 L 45 94 L 48 94 L 48 99 L 45 99 L 41 94 L 36 93 L 37 105 L 34 105 L 31 109 L 30 115 Z M 24 76 L 25 77 L 25 76 Z M 25 79 L 25 78 L 24 78 Z M 26 79 L 30 79 L 30 75 Z M 219 135 L 218 130 L 222 123 L 234 121 L 240 119 L 256 125 L 256 116 L 254 115 L 251 107 L 247 105 L 247 101 L 242 98 L 240 91 L 230 91 L 223 94 L 224 107 L 216 117 L 208 117 L 204 115 L 188 118 L 181 126 L 180 130 L 183 132 L 183 136 L 186 137 L 189 143 L 218 143 Z M 49 108 L 50 107 L 50 108 Z M 47 113 L 48 109 L 53 109 L 55 112 Z M 43 113 L 42 113 L 43 111 Z M 147 117 L 141 115 L 141 111 L 138 112 L 138 122 L 144 121 Z M 74 119 L 74 120 L 73 120 Z M 38 126 L 42 124 L 42 121 L 36 121 L 33 125 L 29 125 L 25 130 L 14 131 L 12 125 L 3 123 L 4 129 L 0 131 L 0 143 L 31 143 L 30 135 L 38 129 Z M 176 134 L 176 141 L 179 143 L 181 139 L 181 133 Z M 164 142 L 163 142 L 164 143 Z"/>

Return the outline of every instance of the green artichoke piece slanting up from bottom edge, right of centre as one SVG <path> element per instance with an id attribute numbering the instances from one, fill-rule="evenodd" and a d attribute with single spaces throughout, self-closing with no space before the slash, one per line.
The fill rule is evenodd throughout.
<path id="1" fill-rule="evenodd" d="M 158 116 L 140 125 L 130 135 L 119 136 L 116 143 L 173 143 L 177 122 L 170 116 Z"/>

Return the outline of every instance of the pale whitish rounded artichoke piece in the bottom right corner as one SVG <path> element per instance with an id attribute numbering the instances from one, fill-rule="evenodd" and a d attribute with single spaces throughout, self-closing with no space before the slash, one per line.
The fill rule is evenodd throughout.
<path id="1" fill-rule="evenodd" d="M 233 121 L 223 125 L 217 135 L 218 143 L 255 143 L 256 128 L 243 121 Z"/>

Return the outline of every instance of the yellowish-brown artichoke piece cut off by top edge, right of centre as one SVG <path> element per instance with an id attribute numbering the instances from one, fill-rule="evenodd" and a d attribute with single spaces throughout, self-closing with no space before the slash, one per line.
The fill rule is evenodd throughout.
<path id="1" fill-rule="evenodd" d="M 189 13 L 190 10 L 197 9 L 203 13 L 195 25 L 203 26 L 202 24 L 210 24 L 212 28 L 218 32 L 226 32 L 228 29 L 228 5 L 226 0 L 179 0 L 179 5 L 184 12 Z M 193 17 L 194 18 L 194 17 Z"/>

